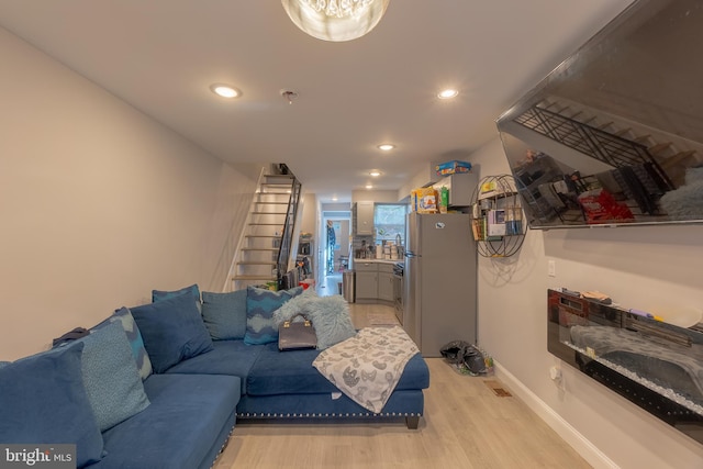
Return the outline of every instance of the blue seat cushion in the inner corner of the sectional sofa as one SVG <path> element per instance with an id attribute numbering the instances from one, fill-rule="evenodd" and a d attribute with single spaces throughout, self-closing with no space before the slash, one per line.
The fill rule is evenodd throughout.
<path id="1" fill-rule="evenodd" d="M 167 373 L 230 375 L 242 378 L 242 393 L 246 393 L 246 377 L 264 349 L 263 345 L 246 345 L 244 340 L 215 340 L 211 351 L 172 366 Z"/>

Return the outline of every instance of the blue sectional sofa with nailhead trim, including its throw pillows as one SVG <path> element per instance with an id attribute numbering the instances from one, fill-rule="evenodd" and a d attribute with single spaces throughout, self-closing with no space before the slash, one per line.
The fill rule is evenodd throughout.
<path id="1" fill-rule="evenodd" d="M 237 418 L 405 418 L 417 428 L 429 386 L 419 354 L 373 413 L 313 368 L 321 350 L 278 350 L 274 314 L 301 292 L 201 300 L 197 286 L 155 290 L 153 303 L 122 308 L 83 337 L 1 364 L 0 442 L 76 444 L 79 468 L 193 469 L 214 464 Z M 289 305 L 332 324 L 320 343 L 355 334 L 341 297 L 306 297 Z"/>

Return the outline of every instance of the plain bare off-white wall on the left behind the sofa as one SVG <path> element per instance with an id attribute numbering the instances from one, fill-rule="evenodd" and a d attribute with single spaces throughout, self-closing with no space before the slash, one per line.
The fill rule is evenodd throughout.
<path id="1" fill-rule="evenodd" d="M 257 168 L 223 164 L 2 29 L 0 57 L 0 360 L 152 289 L 221 291 Z"/>

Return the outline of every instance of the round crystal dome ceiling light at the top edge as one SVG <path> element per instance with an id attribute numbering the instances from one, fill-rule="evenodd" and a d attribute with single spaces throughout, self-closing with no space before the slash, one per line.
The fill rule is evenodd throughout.
<path id="1" fill-rule="evenodd" d="M 390 0 L 281 0 L 291 21 L 323 41 L 352 41 L 369 33 Z"/>

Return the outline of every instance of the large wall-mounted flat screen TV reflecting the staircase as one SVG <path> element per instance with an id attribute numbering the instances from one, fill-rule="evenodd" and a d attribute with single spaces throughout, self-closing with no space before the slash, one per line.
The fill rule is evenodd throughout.
<path id="1" fill-rule="evenodd" d="M 639 0 L 496 121 L 532 228 L 703 223 L 703 2 Z"/>

